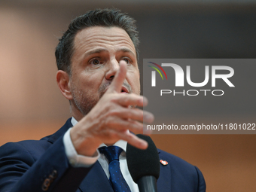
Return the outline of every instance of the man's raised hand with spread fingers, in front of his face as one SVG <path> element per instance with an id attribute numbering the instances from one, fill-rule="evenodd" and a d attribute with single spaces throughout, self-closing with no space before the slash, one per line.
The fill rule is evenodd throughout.
<path id="1" fill-rule="evenodd" d="M 145 123 L 151 123 L 154 116 L 131 107 L 145 106 L 148 99 L 133 93 L 121 93 L 125 78 L 126 62 L 122 60 L 108 90 L 94 108 L 72 128 L 71 139 L 78 154 L 92 156 L 102 142 L 113 145 L 120 139 L 136 148 L 148 147 L 147 142 L 133 133 L 143 133 L 143 117 Z"/>

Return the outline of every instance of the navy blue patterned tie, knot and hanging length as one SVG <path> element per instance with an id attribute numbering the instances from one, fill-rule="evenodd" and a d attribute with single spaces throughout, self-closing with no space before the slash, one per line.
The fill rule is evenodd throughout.
<path id="1" fill-rule="evenodd" d="M 119 155 L 123 149 L 117 146 L 99 148 L 101 154 L 105 154 L 108 159 L 109 180 L 115 192 L 131 192 L 130 187 L 123 178 L 120 171 Z"/>

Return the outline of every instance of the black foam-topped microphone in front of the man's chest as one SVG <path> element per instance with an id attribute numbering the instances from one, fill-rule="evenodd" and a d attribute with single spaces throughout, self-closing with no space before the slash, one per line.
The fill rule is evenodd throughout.
<path id="1" fill-rule="evenodd" d="M 128 169 L 139 186 L 140 192 L 157 192 L 157 179 L 160 175 L 160 163 L 157 147 L 149 136 L 137 135 L 148 142 L 148 148 L 141 150 L 130 144 L 126 147 Z"/>

